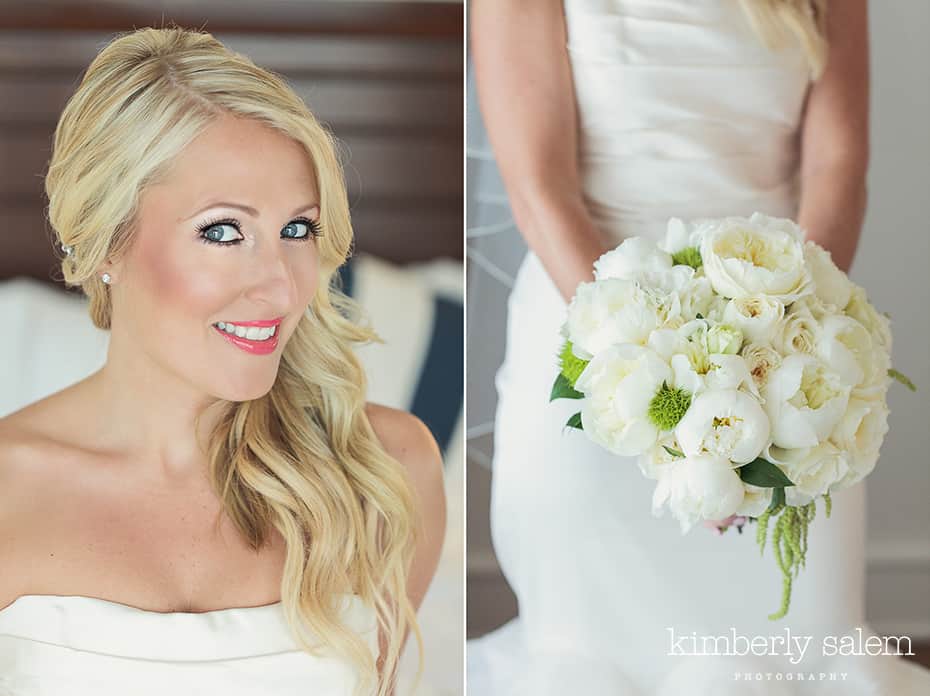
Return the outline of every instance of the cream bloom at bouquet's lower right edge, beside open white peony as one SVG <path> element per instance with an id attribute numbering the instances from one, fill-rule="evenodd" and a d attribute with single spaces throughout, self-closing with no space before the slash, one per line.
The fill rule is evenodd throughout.
<path id="1" fill-rule="evenodd" d="M 836 488 L 852 486 L 872 473 L 887 432 L 888 405 L 884 399 L 849 400 L 846 413 L 830 436 L 848 453 L 849 461 L 849 471 Z"/>

